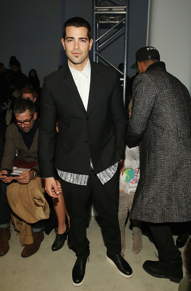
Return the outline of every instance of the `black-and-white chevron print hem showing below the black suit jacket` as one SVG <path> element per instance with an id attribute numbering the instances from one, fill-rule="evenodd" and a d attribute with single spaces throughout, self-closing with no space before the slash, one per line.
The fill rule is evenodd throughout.
<path id="1" fill-rule="evenodd" d="M 113 166 L 97 174 L 98 179 L 101 181 L 103 185 L 106 184 L 114 176 L 114 174 L 117 171 L 118 163 L 119 162 L 117 162 Z M 90 159 L 90 166 L 93 169 L 91 159 Z M 58 169 L 57 171 L 60 178 L 63 179 L 64 181 L 72 183 L 72 184 L 87 186 L 89 175 L 68 173 L 68 172 L 60 171 Z"/>

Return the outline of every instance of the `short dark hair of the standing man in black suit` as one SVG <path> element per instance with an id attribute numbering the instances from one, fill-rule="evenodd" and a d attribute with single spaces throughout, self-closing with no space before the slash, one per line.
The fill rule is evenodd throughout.
<path id="1" fill-rule="evenodd" d="M 67 26 L 74 26 L 74 27 L 86 27 L 88 29 L 88 39 L 91 39 L 91 26 L 87 20 L 82 17 L 73 17 L 68 19 L 64 26 L 63 26 L 63 39 L 65 40 L 66 37 L 66 28 Z"/>

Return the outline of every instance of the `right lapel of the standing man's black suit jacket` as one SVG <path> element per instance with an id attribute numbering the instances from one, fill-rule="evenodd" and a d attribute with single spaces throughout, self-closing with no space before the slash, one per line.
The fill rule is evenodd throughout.
<path id="1" fill-rule="evenodd" d="M 92 102 L 94 100 L 98 83 L 99 83 L 99 78 L 100 78 L 99 69 L 95 67 L 94 62 L 91 60 L 90 60 L 90 64 L 91 64 L 91 77 L 90 77 L 90 92 L 89 92 L 89 98 L 88 98 L 87 113 L 90 110 L 90 107 L 92 106 Z"/>

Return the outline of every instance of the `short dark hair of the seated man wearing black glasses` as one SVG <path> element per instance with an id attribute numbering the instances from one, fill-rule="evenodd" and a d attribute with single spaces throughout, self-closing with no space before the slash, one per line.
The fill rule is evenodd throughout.
<path id="1" fill-rule="evenodd" d="M 29 100 L 29 98 L 17 98 L 14 103 L 14 114 L 19 115 L 26 110 L 28 110 L 30 115 L 33 116 L 36 112 L 34 103 Z"/>

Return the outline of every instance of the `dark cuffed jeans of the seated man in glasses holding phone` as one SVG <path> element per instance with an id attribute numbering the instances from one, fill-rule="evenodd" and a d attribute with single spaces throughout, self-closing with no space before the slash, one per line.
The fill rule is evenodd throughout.
<path id="1" fill-rule="evenodd" d="M 11 208 L 7 201 L 7 195 L 6 195 L 6 190 L 7 190 L 8 185 L 10 185 L 10 183 L 4 183 L 0 180 L 0 227 L 10 226 Z M 31 228 L 32 228 L 32 231 L 43 230 L 44 220 L 37 221 L 36 223 L 31 223 Z"/>

